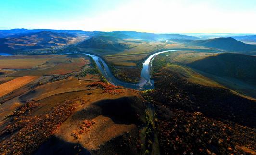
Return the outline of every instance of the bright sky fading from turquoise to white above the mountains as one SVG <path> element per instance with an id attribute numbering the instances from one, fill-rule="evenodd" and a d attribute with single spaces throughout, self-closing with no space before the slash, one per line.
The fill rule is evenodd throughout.
<path id="1" fill-rule="evenodd" d="M 256 0 L 0 0 L 0 29 L 256 33 Z"/>

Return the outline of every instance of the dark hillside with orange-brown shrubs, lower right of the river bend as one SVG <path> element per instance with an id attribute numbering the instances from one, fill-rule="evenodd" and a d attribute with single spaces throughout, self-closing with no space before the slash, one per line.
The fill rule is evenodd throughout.
<path id="1" fill-rule="evenodd" d="M 255 100 L 192 83 L 172 69 L 154 81 L 145 98 L 156 107 L 161 154 L 255 154 Z"/>

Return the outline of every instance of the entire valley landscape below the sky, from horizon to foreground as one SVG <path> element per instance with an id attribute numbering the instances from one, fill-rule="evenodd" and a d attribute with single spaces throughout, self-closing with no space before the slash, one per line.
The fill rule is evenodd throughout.
<path id="1" fill-rule="evenodd" d="M 17 31 L 1 48 L 12 54 L 0 56 L 1 153 L 255 154 L 253 45 Z"/>

